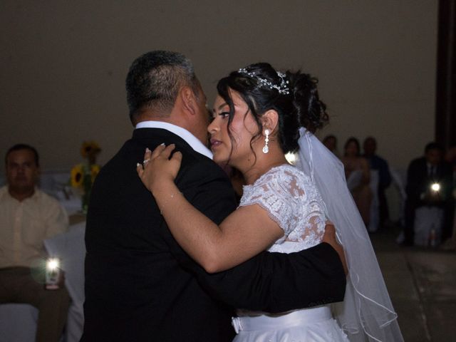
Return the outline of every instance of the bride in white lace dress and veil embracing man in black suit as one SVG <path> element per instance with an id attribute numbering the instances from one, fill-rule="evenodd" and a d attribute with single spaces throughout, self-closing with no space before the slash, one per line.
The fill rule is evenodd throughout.
<path id="1" fill-rule="evenodd" d="M 356 209 L 354 214 L 341 214 L 334 204 L 338 202 L 331 199 L 347 202 L 345 180 L 333 177 L 333 165 L 318 164 L 324 158 L 315 155 L 317 150 L 323 155 L 327 150 L 319 150 L 323 145 L 309 130 L 321 128 L 328 120 L 316 79 L 300 72 L 280 73 L 267 63 L 257 63 L 222 78 L 217 90 L 208 127 L 214 161 L 236 167 L 247 182 L 235 212 L 217 226 L 187 202 L 174 183 L 182 158 L 180 152 L 170 157 L 174 145 L 147 151 L 148 162 L 138 166 L 142 182 L 154 195 L 177 242 L 204 269 L 217 272 L 265 249 L 289 253 L 312 247 L 321 242 L 329 218 L 336 223 L 348 264 L 343 304 L 316 303 L 313 308 L 274 315 L 239 309 L 233 318 L 234 341 L 402 341 L 375 255 L 365 238 L 366 228 L 358 232 L 358 225 L 353 227 L 352 222 L 361 219 Z M 306 173 L 284 157 L 299 148 L 301 170 Z M 326 178 L 320 177 L 320 171 L 324 176 L 326 170 L 319 167 L 330 169 Z M 328 190 L 322 182 L 335 184 Z M 349 195 L 348 200 L 353 202 Z M 363 264 L 370 270 L 363 269 Z M 371 272 L 366 276 L 372 278 L 367 286 L 373 292 L 367 296 L 365 274 L 360 272 Z"/>

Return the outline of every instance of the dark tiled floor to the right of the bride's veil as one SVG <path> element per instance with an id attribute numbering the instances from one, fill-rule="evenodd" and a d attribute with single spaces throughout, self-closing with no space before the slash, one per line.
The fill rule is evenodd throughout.
<path id="1" fill-rule="evenodd" d="M 399 247 L 400 229 L 371 234 L 406 342 L 456 341 L 456 252 Z"/>

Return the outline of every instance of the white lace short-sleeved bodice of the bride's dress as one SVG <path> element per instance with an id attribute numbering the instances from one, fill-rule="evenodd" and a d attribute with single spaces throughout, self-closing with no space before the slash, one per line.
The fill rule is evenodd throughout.
<path id="1" fill-rule="evenodd" d="M 284 237 L 269 252 L 297 252 L 321 242 L 325 204 L 310 177 L 296 167 L 273 167 L 254 184 L 244 185 L 239 207 L 251 204 L 259 204 L 284 229 Z"/>

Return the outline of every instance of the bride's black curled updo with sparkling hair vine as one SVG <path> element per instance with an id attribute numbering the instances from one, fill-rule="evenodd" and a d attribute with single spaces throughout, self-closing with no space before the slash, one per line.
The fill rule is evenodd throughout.
<path id="1" fill-rule="evenodd" d="M 255 63 L 222 78 L 217 83 L 217 92 L 229 105 L 228 128 L 234 115 L 229 90 L 239 93 L 247 103 L 259 127 L 259 133 L 252 141 L 263 131 L 261 115 L 267 110 L 276 110 L 279 113 L 280 146 L 287 153 L 299 149 L 300 127 L 314 133 L 328 122 L 326 105 L 318 98 L 317 83 L 316 78 L 300 71 L 280 73 L 269 63 Z M 229 129 L 228 132 L 234 142 Z"/>

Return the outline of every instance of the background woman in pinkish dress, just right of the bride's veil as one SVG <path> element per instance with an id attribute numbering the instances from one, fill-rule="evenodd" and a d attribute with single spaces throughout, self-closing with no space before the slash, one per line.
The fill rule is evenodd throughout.
<path id="1" fill-rule="evenodd" d="M 356 207 L 363 218 L 366 227 L 369 225 L 371 217 L 372 192 L 369 187 L 371 182 L 371 172 L 366 158 L 361 157 L 361 148 L 356 138 L 348 138 L 343 147 L 343 157 L 341 158 L 345 167 L 348 189 L 353 195 Z"/>

